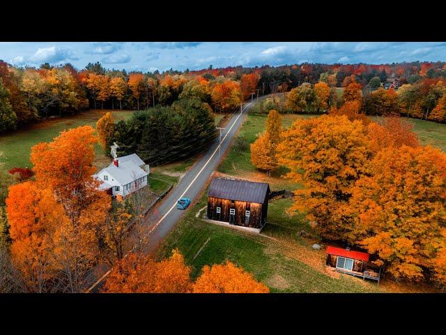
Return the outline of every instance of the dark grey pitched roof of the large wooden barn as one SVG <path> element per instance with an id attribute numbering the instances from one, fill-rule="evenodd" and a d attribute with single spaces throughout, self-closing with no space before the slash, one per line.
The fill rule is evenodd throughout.
<path id="1" fill-rule="evenodd" d="M 266 183 L 240 179 L 213 178 L 210 181 L 208 197 L 263 204 L 269 193 L 270 186 Z"/>

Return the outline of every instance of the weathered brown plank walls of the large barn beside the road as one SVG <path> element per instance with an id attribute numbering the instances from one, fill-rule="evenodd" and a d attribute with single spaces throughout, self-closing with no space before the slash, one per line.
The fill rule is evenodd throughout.
<path id="1" fill-rule="evenodd" d="M 221 208 L 221 213 L 217 213 L 217 207 Z M 234 221 L 231 222 L 229 209 L 236 209 Z M 245 216 L 245 211 L 249 211 L 249 219 Z M 242 225 L 249 228 L 262 228 L 266 222 L 268 211 L 268 201 L 266 204 L 256 202 L 246 202 L 237 200 L 227 200 L 215 197 L 208 197 L 208 218 L 215 221 L 229 222 L 234 225 Z"/>

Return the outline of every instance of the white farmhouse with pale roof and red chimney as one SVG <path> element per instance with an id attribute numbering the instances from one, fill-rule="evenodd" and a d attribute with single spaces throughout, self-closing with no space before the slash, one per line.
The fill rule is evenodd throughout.
<path id="1" fill-rule="evenodd" d="M 102 181 L 101 190 L 107 190 L 114 196 L 125 197 L 147 186 L 149 172 L 149 166 L 137 154 L 131 154 L 114 158 L 107 168 L 93 174 L 93 177 Z"/>

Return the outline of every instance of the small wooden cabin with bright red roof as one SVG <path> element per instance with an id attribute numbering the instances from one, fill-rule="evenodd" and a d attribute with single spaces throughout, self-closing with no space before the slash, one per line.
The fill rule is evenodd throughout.
<path id="1" fill-rule="evenodd" d="M 369 254 L 361 251 L 352 251 L 350 248 L 327 247 L 327 262 L 329 267 L 336 268 L 336 271 L 363 279 L 380 279 L 380 269 L 369 262 Z"/>

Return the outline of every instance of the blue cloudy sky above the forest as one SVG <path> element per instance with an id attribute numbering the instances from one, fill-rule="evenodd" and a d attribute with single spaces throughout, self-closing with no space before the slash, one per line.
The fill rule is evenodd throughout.
<path id="1" fill-rule="evenodd" d="M 2 42 L 0 59 L 16 66 L 70 62 L 82 69 L 100 61 L 105 68 L 190 70 L 225 66 L 268 64 L 370 63 L 446 61 L 441 42 Z"/>

